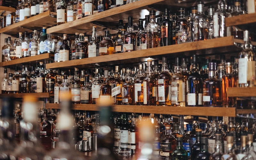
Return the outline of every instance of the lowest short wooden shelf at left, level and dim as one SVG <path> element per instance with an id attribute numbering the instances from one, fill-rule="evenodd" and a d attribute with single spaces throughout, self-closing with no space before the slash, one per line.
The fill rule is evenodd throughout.
<path id="1" fill-rule="evenodd" d="M 25 95 L 29 95 L 35 98 L 49 98 L 52 96 L 51 93 L 12 93 L 12 94 L 0 94 L 0 98 L 13 97 L 13 98 L 23 98 Z"/>

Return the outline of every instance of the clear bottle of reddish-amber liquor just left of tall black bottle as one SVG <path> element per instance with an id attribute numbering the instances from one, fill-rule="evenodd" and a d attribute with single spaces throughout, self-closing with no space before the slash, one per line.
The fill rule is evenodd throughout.
<path id="1" fill-rule="evenodd" d="M 158 47 L 158 24 L 156 23 L 156 11 L 149 11 L 150 20 L 147 24 L 147 48 Z"/>

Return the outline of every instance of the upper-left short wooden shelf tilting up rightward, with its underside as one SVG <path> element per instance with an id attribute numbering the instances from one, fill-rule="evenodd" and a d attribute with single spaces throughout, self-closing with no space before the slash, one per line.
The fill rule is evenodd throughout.
<path id="1" fill-rule="evenodd" d="M 40 30 L 42 27 L 52 27 L 57 25 L 57 20 L 51 16 L 50 11 L 40 13 L 36 16 L 14 23 L 10 26 L 0 29 L 0 33 L 12 35 L 16 37 L 18 32 L 32 32 L 34 29 Z"/>

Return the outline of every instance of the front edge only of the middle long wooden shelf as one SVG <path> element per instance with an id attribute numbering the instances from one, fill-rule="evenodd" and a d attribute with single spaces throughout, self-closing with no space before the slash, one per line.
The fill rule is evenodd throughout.
<path id="1" fill-rule="evenodd" d="M 46 68 L 61 68 L 61 67 L 68 67 L 68 66 L 77 67 L 78 65 L 85 65 L 85 64 L 110 62 L 110 61 L 117 61 L 117 60 L 127 60 L 127 59 L 134 59 L 134 58 L 147 58 L 151 56 L 159 56 L 164 54 L 197 51 L 197 50 L 212 49 L 212 48 L 227 47 L 227 46 L 235 47 L 233 36 L 215 38 L 215 39 L 198 41 L 198 42 L 174 44 L 169 46 L 150 48 L 146 50 L 116 53 L 116 54 L 91 57 L 91 58 L 85 58 L 85 59 L 79 59 L 79 60 L 69 60 L 65 62 L 49 63 L 49 64 L 46 64 Z"/>

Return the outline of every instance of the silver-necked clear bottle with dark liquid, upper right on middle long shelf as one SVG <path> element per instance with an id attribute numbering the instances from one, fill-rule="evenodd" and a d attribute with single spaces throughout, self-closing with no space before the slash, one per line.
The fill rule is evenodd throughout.
<path id="1" fill-rule="evenodd" d="M 197 13 L 193 20 L 193 40 L 201 41 L 208 39 L 208 22 L 207 17 L 204 14 L 204 2 L 198 1 Z"/>

